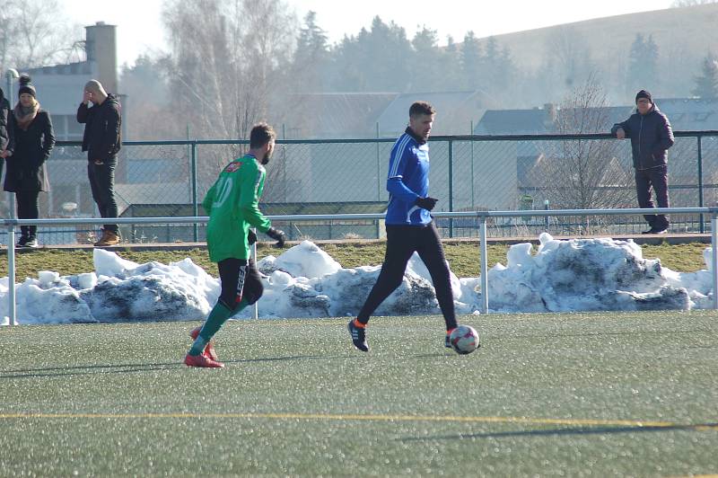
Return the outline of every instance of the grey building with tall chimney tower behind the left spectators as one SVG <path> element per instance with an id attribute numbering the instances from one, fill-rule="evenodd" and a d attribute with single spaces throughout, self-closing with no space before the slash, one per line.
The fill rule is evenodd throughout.
<path id="1" fill-rule="evenodd" d="M 58 141 L 81 141 L 84 125 L 76 120 L 77 107 L 88 80 L 100 80 L 108 93 L 118 95 L 127 120 L 126 97 L 119 93 L 117 27 L 104 22 L 85 27 L 84 61 L 57 66 L 22 69 L 38 91 L 38 101 L 49 111 Z M 127 139 L 127 122 L 123 122 Z M 115 172 L 120 216 L 137 215 L 133 207 L 190 203 L 187 147 L 125 147 Z M 46 217 L 99 217 L 87 180 L 87 156 L 79 146 L 55 146 L 48 160 L 50 191 L 40 195 Z M 158 187 L 158 185 L 160 185 Z M 73 205 L 75 207 L 73 208 Z M 66 236 L 46 235 L 44 243 L 68 242 Z"/>

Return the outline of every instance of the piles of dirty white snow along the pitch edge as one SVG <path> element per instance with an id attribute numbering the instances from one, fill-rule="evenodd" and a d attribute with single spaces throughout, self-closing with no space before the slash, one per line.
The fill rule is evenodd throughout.
<path id="1" fill-rule="evenodd" d="M 709 270 L 681 273 L 661 268 L 659 260 L 644 258 L 641 246 L 633 241 L 559 241 L 547 233 L 538 239 L 538 251 L 531 243 L 514 244 L 503 261 L 505 266 L 497 263 L 488 270 L 490 310 L 688 310 L 713 305 Z M 40 271 L 37 278 L 17 278 L 22 280 L 16 288 L 18 323 L 196 321 L 206 317 L 220 293 L 219 280 L 188 258 L 171 264 L 137 264 L 99 248 L 92 254 L 93 272 L 60 277 L 57 272 Z M 710 256 L 706 248 L 706 268 Z M 258 316 L 263 318 L 355 316 L 381 270 L 377 264 L 342 269 L 310 241 L 278 257 L 264 257 L 257 267 L 266 275 L 264 295 L 258 302 Z M 415 252 L 398 291 L 375 314 L 440 314 L 430 284 L 429 271 Z M 458 314 L 479 314 L 483 309 L 477 292 L 480 284 L 479 278 L 459 279 L 451 274 Z M 0 279 L 0 310 L 4 311 L 8 310 L 7 285 L 7 278 Z M 238 318 L 248 319 L 250 314 L 248 307 Z M 0 326 L 9 322 L 0 314 Z"/>

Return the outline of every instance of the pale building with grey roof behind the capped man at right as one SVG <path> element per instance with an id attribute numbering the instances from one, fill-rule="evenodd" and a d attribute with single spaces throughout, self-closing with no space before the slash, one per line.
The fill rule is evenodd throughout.
<path id="1" fill-rule="evenodd" d="M 656 99 L 656 104 L 669 118 L 675 131 L 718 129 L 718 100 L 699 98 Z M 626 120 L 635 112 L 635 106 L 609 106 L 592 109 L 595 117 L 602 119 L 604 132 L 611 126 Z M 561 111 L 553 104 L 530 110 L 489 110 L 474 128 L 480 136 L 557 134 L 556 120 Z M 706 148 L 707 149 L 707 148 Z M 607 149 L 609 151 L 609 149 Z M 477 198 L 482 208 L 517 208 L 521 197 L 540 190 L 535 172 L 539 164 L 555 164 L 562 155 L 554 141 L 482 141 L 474 145 Z M 679 138 L 670 149 L 671 203 L 676 206 L 696 206 L 696 139 Z M 622 167 L 631 171 L 629 143 L 619 144 L 610 157 L 605 158 L 607 171 Z M 718 172 L 718 157 L 704 152 L 704 171 Z M 707 174 L 707 173 L 706 173 Z M 714 173 L 715 175 L 715 173 Z M 707 178 L 707 175 L 706 175 Z M 718 177 L 714 178 L 718 181 Z M 715 182 L 711 180 L 711 182 Z M 500 185 L 497 187 L 497 185 Z M 604 184 L 611 186 L 611 184 Z M 540 197 L 540 192 L 536 193 Z M 538 199 L 538 198 L 535 198 Z"/>

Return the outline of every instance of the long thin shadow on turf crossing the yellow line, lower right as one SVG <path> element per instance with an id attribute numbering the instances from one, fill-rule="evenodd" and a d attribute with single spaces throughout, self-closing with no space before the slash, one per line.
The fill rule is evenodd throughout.
<path id="1" fill-rule="evenodd" d="M 501 431 L 495 433 L 460 433 L 424 438 L 397 438 L 399 441 L 458 440 L 470 438 L 509 438 L 509 437 L 550 437 L 569 435 L 604 435 L 612 433 L 644 433 L 655 431 L 696 431 L 701 428 L 718 429 L 716 423 L 697 423 L 694 425 L 662 425 L 648 427 L 578 427 L 570 429 L 531 429 L 523 431 Z"/>

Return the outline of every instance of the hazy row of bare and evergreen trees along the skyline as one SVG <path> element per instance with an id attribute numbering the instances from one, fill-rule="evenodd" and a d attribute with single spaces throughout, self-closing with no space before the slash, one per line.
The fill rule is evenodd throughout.
<path id="1" fill-rule="evenodd" d="M 610 92 L 609 102 L 626 102 L 637 85 L 666 92 L 661 82 L 680 75 L 682 90 L 668 94 L 718 97 L 712 53 L 692 72 L 661 71 L 661 49 L 640 32 L 626 45 L 626 64 L 608 71 L 616 62 L 597 60 L 588 40 L 571 26 L 552 32 L 545 48 L 537 48 L 547 53 L 531 68 L 495 38 L 479 39 L 468 31 L 460 42 L 450 37 L 440 46 L 430 28 L 409 39 L 403 27 L 379 16 L 368 28 L 330 44 L 315 13 L 300 22 L 283 0 L 169 0 L 162 17 L 171 50 L 138 58 L 122 70 L 120 93 L 128 94 L 133 103 L 128 111 L 138 115 L 130 137 L 147 131 L 183 137 L 187 128 L 193 137 L 244 137 L 249 125 L 270 111 L 272 120 L 281 121 L 307 108 L 293 93 L 478 90 L 494 102 L 487 106 L 524 108 L 560 102 L 590 77 Z M 66 26 L 57 0 L 5 0 L 0 24 L 3 69 L 79 59 L 82 41 L 68 39 L 81 38 L 81 29 Z"/>

